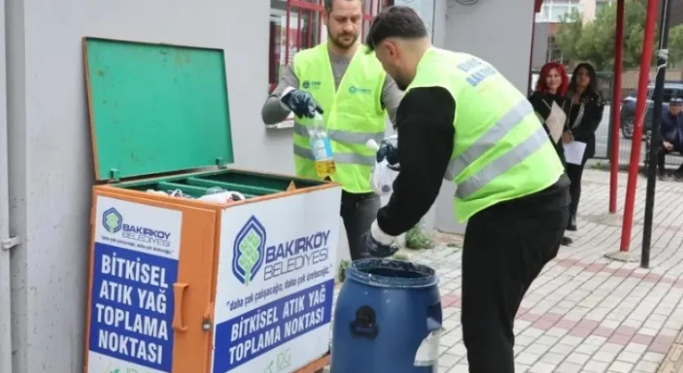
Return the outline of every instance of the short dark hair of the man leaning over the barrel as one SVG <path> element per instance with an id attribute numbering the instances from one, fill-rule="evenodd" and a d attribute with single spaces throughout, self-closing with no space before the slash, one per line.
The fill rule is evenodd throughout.
<path id="1" fill-rule="evenodd" d="M 377 44 L 390 37 L 420 39 L 427 36 L 427 28 L 417 12 L 407 6 L 394 5 L 384 8 L 374 18 L 366 44 L 372 52 Z"/>

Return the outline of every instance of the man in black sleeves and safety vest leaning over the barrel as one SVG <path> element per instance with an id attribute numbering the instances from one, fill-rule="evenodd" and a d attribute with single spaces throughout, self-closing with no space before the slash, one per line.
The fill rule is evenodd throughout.
<path id="1" fill-rule="evenodd" d="M 555 258 L 569 216 L 569 180 L 534 109 L 484 60 L 430 44 L 420 17 L 393 6 L 367 45 L 406 88 L 398 107 L 401 171 L 367 246 L 386 256 L 437 198 L 458 188 L 468 220 L 462 249 L 462 334 L 470 373 L 514 372 L 513 321 L 542 267 Z"/>

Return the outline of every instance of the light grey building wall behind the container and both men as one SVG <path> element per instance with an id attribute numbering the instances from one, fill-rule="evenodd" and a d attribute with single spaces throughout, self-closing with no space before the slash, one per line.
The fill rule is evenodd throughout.
<path id="1" fill-rule="evenodd" d="M 533 2 L 502 3 L 437 0 L 435 44 L 478 54 L 524 90 Z M 5 10 L 10 231 L 20 237 L 12 252 L 12 373 L 81 372 L 94 182 L 81 38 L 225 49 L 237 166 L 288 173 L 291 130 L 266 131 L 260 118 L 269 2 L 13 0 Z M 498 27 L 481 28 L 485 22 Z M 452 222 L 452 195 L 445 185 L 428 226 L 462 229 Z"/>

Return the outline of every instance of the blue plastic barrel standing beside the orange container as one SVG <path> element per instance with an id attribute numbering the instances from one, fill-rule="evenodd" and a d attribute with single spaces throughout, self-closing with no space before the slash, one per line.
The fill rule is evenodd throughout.
<path id="1" fill-rule="evenodd" d="M 363 259 L 346 270 L 334 309 L 331 373 L 430 373 L 441 335 L 429 266 Z"/>

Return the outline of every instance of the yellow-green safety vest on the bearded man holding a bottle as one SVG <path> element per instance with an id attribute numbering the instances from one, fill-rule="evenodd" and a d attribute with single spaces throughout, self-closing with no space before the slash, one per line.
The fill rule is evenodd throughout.
<path id="1" fill-rule="evenodd" d="M 308 91 L 325 111 L 324 125 L 336 166 L 331 179 L 350 193 L 372 192 L 375 152 L 366 142 L 382 141 L 387 118 L 382 108 L 386 73 L 380 61 L 361 46 L 336 90 L 326 43 L 296 53 L 293 66 L 298 88 Z M 294 119 L 294 166 L 296 175 L 317 179 L 307 128 L 311 124 L 309 118 Z"/>

